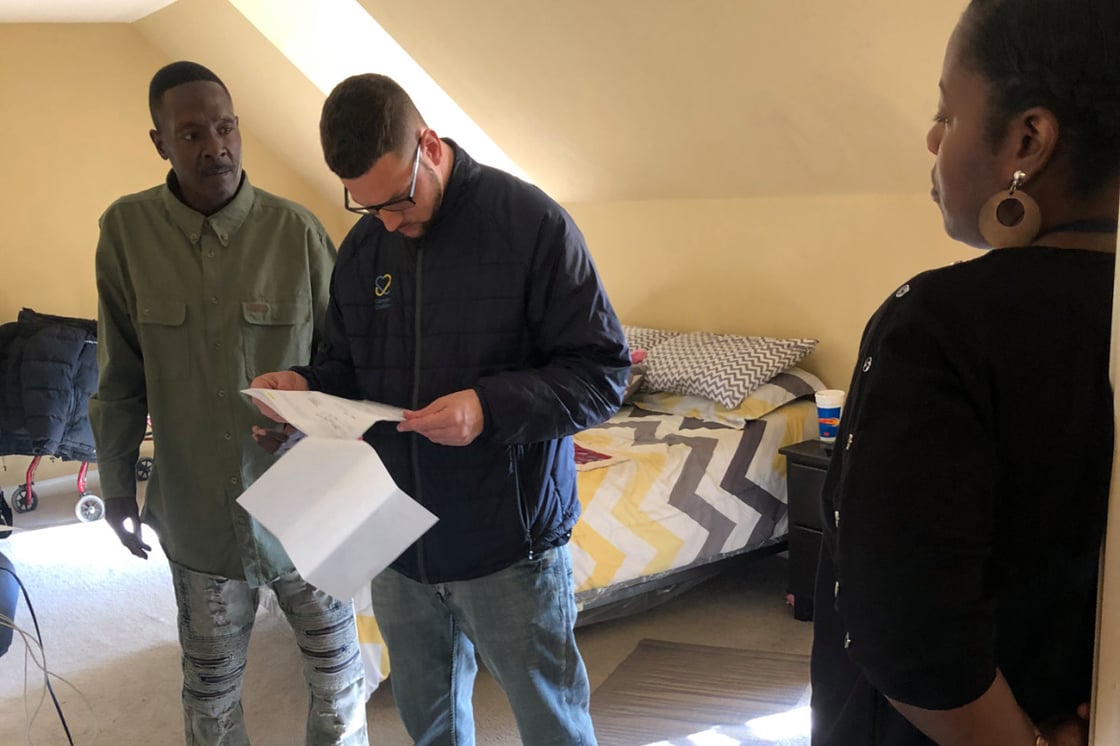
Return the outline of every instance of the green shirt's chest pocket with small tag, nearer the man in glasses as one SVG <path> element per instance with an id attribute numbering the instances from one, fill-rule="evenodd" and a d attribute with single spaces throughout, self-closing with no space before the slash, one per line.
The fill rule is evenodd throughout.
<path id="1" fill-rule="evenodd" d="M 311 357 L 311 302 L 246 300 L 241 304 L 245 374 L 258 375 L 307 365 Z"/>

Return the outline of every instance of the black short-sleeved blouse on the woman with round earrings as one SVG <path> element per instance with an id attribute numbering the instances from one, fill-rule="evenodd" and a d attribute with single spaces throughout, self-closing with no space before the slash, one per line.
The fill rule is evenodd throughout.
<path id="1" fill-rule="evenodd" d="M 885 697 L 960 707 L 997 666 L 1036 722 L 1089 700 L 1112 273 L 1004 249 L 871 317 L 823 489 L 814 745 L 928 744 Z"/>

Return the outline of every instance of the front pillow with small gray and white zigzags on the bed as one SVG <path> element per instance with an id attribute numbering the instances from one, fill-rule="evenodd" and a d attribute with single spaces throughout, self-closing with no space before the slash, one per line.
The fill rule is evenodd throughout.
<path id="1" fill-rule="evenodd" d="M 734 408 L 815 346 L 816 339 L 681 334 L 650 349 L 642 389 L 704 397 Z"/>

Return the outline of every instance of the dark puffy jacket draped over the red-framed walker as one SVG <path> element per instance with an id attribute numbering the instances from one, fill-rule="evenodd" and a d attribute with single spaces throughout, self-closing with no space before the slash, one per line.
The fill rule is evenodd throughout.
<path id="1" fill-rule="evenodd" d="M 96 345 L 93 319 L 25 308 L 0 325 L 0 454 L 96 460 L 86 410 Z"/>

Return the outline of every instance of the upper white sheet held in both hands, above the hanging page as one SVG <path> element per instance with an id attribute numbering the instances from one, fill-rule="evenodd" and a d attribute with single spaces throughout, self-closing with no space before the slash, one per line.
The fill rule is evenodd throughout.
<path id="1" fill-rule="evenodd" d="M 332 397 L 321 391 L 279 391 L 242 389 L 241 393 L 259 399 L 309 436 L 320 438 L 361 438 L 374 422 L 404 419 L 402 409 L 375 401 Z"/>

